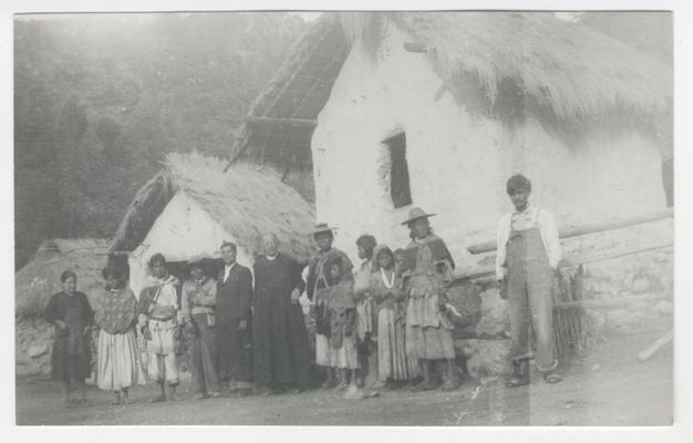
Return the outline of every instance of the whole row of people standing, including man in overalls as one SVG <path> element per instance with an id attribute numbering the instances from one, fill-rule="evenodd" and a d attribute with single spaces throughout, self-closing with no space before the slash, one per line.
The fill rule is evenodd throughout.
<path id="1" fill-rule="evenodd" d="M 551 322 L 558 231 L 550 213 L 529 206 L 529 179 L 515 175 L 506 189 L 515 212 L 498 224 L 496 260 L 500 293 L 510 306 L 514 371 L 506 385 L 529 382 L 528 362 L 535 356 L 545 380 L 554 383 L 560 381 Z M 87 337 L 95 323 L 101 330 L 96 382 L 114 392 L 116 404 L 130 402 L 128 390 L 146 379 L 161 388 L 153 401 L 177 399 L 180 333 L 189 338 L 199 399 L 220 396 L 223 385 L 239 395 L 303 391 L 313 379 L 300 303 L 306 291 L 316 322 L 314 362 L 324 368 L 324 389 L 456 389 L 452 330 L 457 313 L 447 299 L 455 262 L 433 234 L 432 216 L 421 208 L 410 210 L 403 225 L 411 241 L 402 249 L 361 236 L 356 248 L 363 261 L 355 270 L 346 254 L 332 246 L 337 228 L 319 224 L 312 233 L 318 251 L 306 281 L 303 266 L 279 253 L 273 234 L 262 237 L 263 254 L 252 272 L 236 261 L 236 245 L 227 241 L 220 247 L 224 268 L 216 278 L 209 259 L 192 258 L 183 285 L 156 254 L 138 299 L 126 287 L 125 272 L 107 267 L 96 312 L 76 291 L 76 275 L 65 271 L 64 290 L 45 310 L 56 328 L 52 378 L 63 382 L 68 404 L 87 403 L 83 381 L 91 374 Z M 73 382 L 81 391 L 76 400 L 71 398 Z"/>

